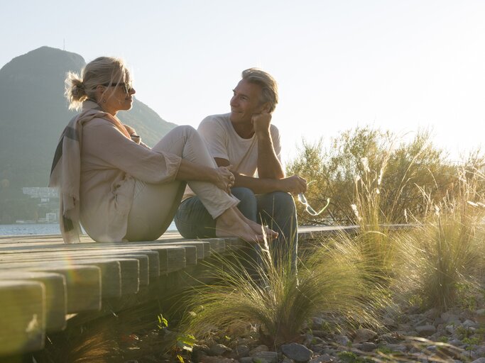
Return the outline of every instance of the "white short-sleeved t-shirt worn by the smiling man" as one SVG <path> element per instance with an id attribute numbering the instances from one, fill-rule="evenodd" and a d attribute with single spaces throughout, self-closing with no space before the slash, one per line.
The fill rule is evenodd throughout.
<path id="1" fill-rule="evenodd" d="M 209 154 L 212 157 L 229 160 L 232 169 L 248 177 L 256 177 L 258 172 L 258 138 L 241 138 L 234 130 L 230 113 L 207 116 L 197 128 L 205 140 Z M 281 144 L 278 128 L 270 125 L 273 148 L 278 160 L 281 162 Z M 193 196 L 194 193 L 187 187 L 183 199 Z"/>

